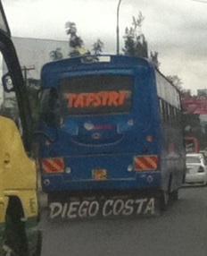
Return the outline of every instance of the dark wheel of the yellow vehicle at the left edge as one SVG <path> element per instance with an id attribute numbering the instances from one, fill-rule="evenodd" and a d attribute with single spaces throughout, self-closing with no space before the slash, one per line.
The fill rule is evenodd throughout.
<path id="1" fill-rule="evenodd" d="M 28 256 L 27 235 L 25 223 L 21 221 L 22 208 L 20 200 L 12 198 L 9 201 L 5 216 L 4 256 Z"/>

